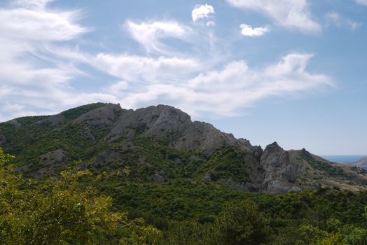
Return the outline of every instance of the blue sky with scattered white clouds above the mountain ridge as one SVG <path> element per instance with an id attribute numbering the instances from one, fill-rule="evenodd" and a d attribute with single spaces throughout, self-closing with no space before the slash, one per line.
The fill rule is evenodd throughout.
<path id="1" fill-rule="evenodd" d="M 1 0 L 0 121 L 169 104 L 265 147 L 367 154 L 367 0 Z"/>

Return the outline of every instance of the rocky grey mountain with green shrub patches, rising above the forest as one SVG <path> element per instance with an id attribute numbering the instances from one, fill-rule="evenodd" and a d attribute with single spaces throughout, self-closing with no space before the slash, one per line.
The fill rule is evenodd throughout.
<path id="1" fill-rule="evenodd" d="M 305 149 L 285 151 L 276 142 L 263 150 L 165 105 L 133 111 L 96 103 L 53 116 L 17 118 L 0 123 L 0 146 L 17 156 L 19 172 L 36 179 L 80 160 L 95 173 L 128 168 L 137 183 L 183 179 L 270 194 L 318 186 L 367 188 L 363 169 L 328 162 Z"/>

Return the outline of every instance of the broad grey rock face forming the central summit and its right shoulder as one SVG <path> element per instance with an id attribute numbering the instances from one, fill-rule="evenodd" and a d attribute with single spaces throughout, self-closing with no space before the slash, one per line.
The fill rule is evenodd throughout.
<path id="1" fill-rule="evenodd" d="M 221 146 L 237 145 L 246 148 L 257 158 L 262 153 L 261 147 L 251 146 L 244 139 L 235 139 L 232 134 L 223 133 L 209 123 L 192 122 L 187 113 L 172 106 L 158 105 L 137 111 L 123 111 L 106 140 L 116 141 L 135 134 L 167 140 L 170 146 L 180 151 L 201 149 L 211 153 Z"/>

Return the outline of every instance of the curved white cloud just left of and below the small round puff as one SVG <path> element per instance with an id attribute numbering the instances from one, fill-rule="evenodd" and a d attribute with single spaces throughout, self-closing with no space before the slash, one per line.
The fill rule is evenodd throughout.
<path id="1" fill-rule="evenodd" d="M 167 53 L 169 48 L 162 43 L 162 39 L 178 38 L 188 40 L 191 36 L 189 27 L 173 20 L 141 23 L 127 20 L 124 27 L 129 31 L 132 38 L 148 52 Z"/>

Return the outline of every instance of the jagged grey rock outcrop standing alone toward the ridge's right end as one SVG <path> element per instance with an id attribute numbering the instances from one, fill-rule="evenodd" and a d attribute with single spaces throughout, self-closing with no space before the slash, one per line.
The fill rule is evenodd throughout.
<path id="1" fill-rule="evenodd" d="M 260 165 L 265 176 L 261 187 L 266 193 L 287 193 L 302 190 L 297 181 L 298 171 L 289 160 L 289 153 L 277 142 L 266 146 L 261 155 Z"/>

